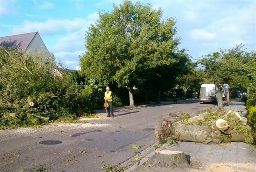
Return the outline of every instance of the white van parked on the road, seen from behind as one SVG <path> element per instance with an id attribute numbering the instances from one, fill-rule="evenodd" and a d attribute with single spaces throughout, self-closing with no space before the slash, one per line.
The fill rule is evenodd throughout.
<path id="1" fill-rule="evenodd" d="M 202 84 L 199 96 L 200 103 L 217 103 L 217 86 L 215 84 Z"/>

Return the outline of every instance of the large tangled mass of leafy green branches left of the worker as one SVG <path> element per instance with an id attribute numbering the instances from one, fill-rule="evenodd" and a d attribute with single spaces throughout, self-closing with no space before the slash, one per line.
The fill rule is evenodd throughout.
<path id="1" fill-rule="evenodd" d="M 54 121 L 88 110 L 90 86 L 57 69 L 53 56 L 0 47 L 0 128 L 44 124 L 42 117 Z"/>

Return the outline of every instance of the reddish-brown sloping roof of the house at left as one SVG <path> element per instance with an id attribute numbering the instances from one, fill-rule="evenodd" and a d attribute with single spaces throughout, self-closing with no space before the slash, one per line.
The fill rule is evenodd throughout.
<path id="1" fill-rule="evenodd" d="M 0 37 L 0 46 L 4 46 L 6 48 L 16 47 L 21 48 L 22 50 L 26 50 L 31 43 L 32 39 L 38 32 L 32 33 L 24 33 L 12 36 Z"/>

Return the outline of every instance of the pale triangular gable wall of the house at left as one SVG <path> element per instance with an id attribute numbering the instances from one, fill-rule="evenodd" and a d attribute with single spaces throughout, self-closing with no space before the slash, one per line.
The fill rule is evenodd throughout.
<path id="1" fill-rule="evenodd" d="M 36 51 L 40 53 L 45 53 L 46 57 L 50 57 L 51 54 L 49 53 L 48 49 L 46 48 L 45 44 L 43 43 L 42 38 L 40 37 L 39 33 L 36 33 L 32 41 L 29 43 L 29 46 L 26 49 L 27 51 Z M 41 52 L 42 51 L 42 52 Z"/>

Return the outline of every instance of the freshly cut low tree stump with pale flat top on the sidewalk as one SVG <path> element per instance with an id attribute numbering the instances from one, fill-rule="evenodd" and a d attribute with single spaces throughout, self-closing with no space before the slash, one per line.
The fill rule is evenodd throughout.
<path id="1" fill-rule="evenodd" d="M 155 162 L 160 167 L 190 167 L 184 152 L 172 150 L 156 150 Z"/>

